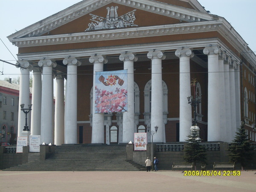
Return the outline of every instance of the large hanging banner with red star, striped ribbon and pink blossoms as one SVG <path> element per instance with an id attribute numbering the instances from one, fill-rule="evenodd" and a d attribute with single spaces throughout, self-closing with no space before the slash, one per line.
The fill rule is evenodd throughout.
<path id="1" fill-rule="evenodd" d="M 127 111 L 127 70 L 96 72 L 95 113 Z"/>

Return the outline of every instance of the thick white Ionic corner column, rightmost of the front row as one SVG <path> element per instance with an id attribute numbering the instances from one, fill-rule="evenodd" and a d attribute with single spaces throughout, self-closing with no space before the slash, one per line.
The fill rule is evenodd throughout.
<path id="1" fill-rule="evenodd" d="M 208 141 L 221 140 L 220 135 L 220 99 L 219 99 L 219 47 L 212 45 L 204 48 L 208 55 Z"/>

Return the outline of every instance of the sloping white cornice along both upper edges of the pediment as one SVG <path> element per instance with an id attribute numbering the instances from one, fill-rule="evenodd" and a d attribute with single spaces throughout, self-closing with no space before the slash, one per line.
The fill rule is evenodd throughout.
<path id="1" fill-rule="evenodd" d="M 134 7 L 136 9 L 142 9 L 155 14 L 165 15 L 167 17 L 173 17 L 187 22 L 212 20 L 212 16 L 210 14 L 165 3 L 152 2 L 149 0 L 84 0 L 64 9 L 61 12 L 49 16 L 44 20 L 38 21 L 35 24 L 21 29 L 12 35 L 9 35 L 9 41 L 13 42 L 15 39 L 22 37 L 40 36 L 83 15 L 87 15 L 88 13 L 111 2 Z"/>

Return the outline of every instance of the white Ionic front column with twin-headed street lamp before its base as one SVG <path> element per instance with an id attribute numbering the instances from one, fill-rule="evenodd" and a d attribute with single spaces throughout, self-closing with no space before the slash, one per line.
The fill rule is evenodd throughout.
<path id="1" fill-rule="evenodd" d="M 151 59 L 151 130 L 158 126 L 154 135 L 154 142 L 164 142 L 163 123 L 163 85 L 162 85 L 162 60 L 166 58 L 163 51 L 150 50 L 148 58 Z"/>

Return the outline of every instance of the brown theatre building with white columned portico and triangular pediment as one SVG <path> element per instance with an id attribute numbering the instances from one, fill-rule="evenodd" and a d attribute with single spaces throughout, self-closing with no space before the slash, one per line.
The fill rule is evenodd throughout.
<path id="1" fill-rule="evenodd" d="M 256 55 L 200 3 L 83 0 L 9 35 L 18 47 L 19 104 L 29 104 L 33 76 L 31 127 L 23 131 L 19 110 L 18 136 L 112 144 L 147 132 L 150 142 L 147 128 L 157 126 L 154 142 L 184 142 L 196 119 L 202 142 L 231 142 L 241 122 L 256 141 Z M 198 99 L 195 113 L 189 96 Z"/>

